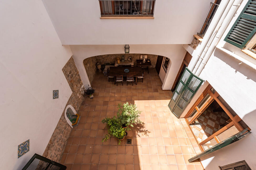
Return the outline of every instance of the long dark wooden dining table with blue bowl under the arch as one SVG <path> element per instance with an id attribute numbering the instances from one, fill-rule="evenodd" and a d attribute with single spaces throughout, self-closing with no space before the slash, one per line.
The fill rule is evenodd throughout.
<path id="1" fill-rule="evenodd" d="M 129 69 L 129 72 L 124 72 L 124 69 Z M 143 72 L 141 67 L 110 67 L 108 76 L 113 76 L 114 80 L 116 80 L 116 76 L 127 76 L 133 75 L 135 77 L 135 83 L 137 84 L 138 79 L 137 77 L 142 77 Z M 114 82 L 116 84 L 116 81 Z"/>

